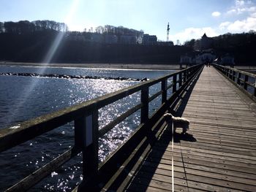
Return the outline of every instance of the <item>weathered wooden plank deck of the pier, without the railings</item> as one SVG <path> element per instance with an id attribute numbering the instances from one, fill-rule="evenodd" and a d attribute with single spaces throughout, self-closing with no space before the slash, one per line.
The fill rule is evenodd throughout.
<path id="1" fill-rule="evenodd" d="M 255 102 L 213 67 L 205 67 L 182 114 L 191 122 L 175 135 L 166 130 L 127 191 L 256 191 Z M 179 132 L 178 130 L 177 132 Z"/>

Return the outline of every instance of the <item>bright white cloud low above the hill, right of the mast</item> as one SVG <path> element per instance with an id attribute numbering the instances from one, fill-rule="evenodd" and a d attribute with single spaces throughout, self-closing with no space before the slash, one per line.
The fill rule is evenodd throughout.
<path id="1" fill-rule="evenodd" d="M 216 37 L 219 35 L 217 31 L 211 27 L 185 28 L 183 31 L 180 31 L 177 34 L 170 35 L 170 40 L 176 43 L 178 39 L 181 43 L 183 43 L 190 39 L 200 39 L 204 33 L 206 33 L 208 37 Z"/>

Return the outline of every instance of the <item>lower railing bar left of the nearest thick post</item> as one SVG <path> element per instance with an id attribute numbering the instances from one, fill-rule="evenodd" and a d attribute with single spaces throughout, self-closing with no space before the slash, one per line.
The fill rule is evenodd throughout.
<path id="1" fill-rule="evenodd" d="M 25 177 L 23 180 L 20 180 L 15 185 L 12 185 L 12 187 L 8 188 L 7 191 L 29 190 L 29 188 L 36 185 L 40 180 L 50 174 L 50 172 L 53 172 L 59 168 L 59 166 L 69 161 L 75 155 L 78 155 L 78 153 L 80 153 L 80 150 L 75 149 L 75 147 L 70 148 L 69 150 L 59 155 L 57 158 L 50 161 L 48 164 L 45 164 L 45 166 L 42 166 L 41 168 L 37 169 L 37 171 L 29 174 L 29 176 Z"/>

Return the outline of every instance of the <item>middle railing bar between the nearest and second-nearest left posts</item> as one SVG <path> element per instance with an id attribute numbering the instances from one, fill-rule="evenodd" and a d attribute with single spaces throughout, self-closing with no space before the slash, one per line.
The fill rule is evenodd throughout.
<path id="1" fill-rule="evenodd" d="M 127 110 L 127 112 L 124 112 L 122 115 L 120 115 L 118 118 L 116 118 L 112 122 L 108 123 L 107 126 L 99 130 L 99 137 L 102 137 L 103 135 L 108 133 L 108 131 L 110 131 L 114 126 L 118 125 L 118 123 L 121 123 L 124 119 L 128 118 L 134 112 L 140 110 L 141 107 L 142 107 L 142 104 L 138 104 L 135 107 L 132 107 L 131 109 Z"/>

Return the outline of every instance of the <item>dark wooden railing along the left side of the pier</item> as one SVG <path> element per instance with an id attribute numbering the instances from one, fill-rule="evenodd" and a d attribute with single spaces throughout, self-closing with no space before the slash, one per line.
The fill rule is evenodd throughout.
<path id="1" fill-rule="evenodd" d="M 75 145 L 50 161 L 48 164 L 45 164 L 45 166 L 37 169 L 37 171 L 33 172 L 23 180 L 20 180 L 11 188 L 7 189 L 7 191 L 28 190 L 80 152 L 83 153 L 83 178 L 94 178 L 99 174 L 99 169 L 101 169 L 101 167 L 106 164 L 105 162 L 109 160 L 109 158 L 106 159 L 99 166 L 99 137 L 108 133 L 108 131 L 110 131 L 114 126 L 118 125 L 118 123 L 121 123 L 125 118 L 138 110 L 141 112 L 140 125 L 136 130 L 140 131 L 140 129 L 143 129 L 143 127 L 145 127 L 151 120 L 151 117 L 148 117 L 149 102 L 156 99 L 158 96 L 162 96 L 162 104 L 165 104 L 168 99 L 167 91 L 171 90 L 173 92 L 172 96 L 175 96 L 175 93 L 181 91 L 181 89 L 184 88 L 183 85 L 188 83 L 192 77 L 200 71 L 200 69 L 202 69 L 202 65 L 191 66 L 188 69 L 174 72 L 173 74 L 166 75 L 165 77 L 160 77 L 157 80 L 141 82 L 138 85 L 133 85 L 114 93 L 108 93 L 97 99 L 85 101 L 73 107 L 67 107 L 64 110 L 52 112 L 33 120 L 27 120 L 20 123 L 18 126 L 15 126 L 15 128 L 12 126 L 0 129 L 0 152 L 2 152 L 20 145 L 29 139 L 33 139 L 34 137 L 58 128 L 59 126 L 63 126 L 71 121 L 75 122 Z M 170 85 L 168 85 L 168 82 Z M 157 83 L 161 83 L 161 90 L 153 96 L 150 96 L 148 89 Z M 99 109 L 138 92 L 140 92 L 141 96 L 140 104 L 127 110 L 108 125 L 99 129 Z M 127 143 L 132 137 L 135 137 L 135 134 L 129 137 Z"/>

